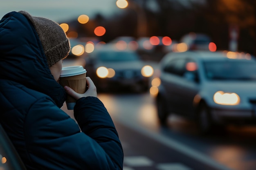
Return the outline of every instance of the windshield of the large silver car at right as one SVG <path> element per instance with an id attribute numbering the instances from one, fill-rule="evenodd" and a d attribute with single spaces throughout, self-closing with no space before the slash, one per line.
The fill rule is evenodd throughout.
<path id="1" fill-rule="evenodd" d="M 256 62 L 231 60 L 204 62 L 207 79 L 210 80 L 256 80 Z"/>

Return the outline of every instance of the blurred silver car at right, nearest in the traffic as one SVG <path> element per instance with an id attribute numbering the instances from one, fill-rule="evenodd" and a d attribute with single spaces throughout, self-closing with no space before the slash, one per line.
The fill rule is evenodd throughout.
<path id="1" fill-rule="evenodd" d="M 156 104 L 162 124 L 170 113 L 195 120 L 202 133 L 229 123 L 256 123 L 254 56 L 230 51 L 168 53 L 159 69 Z"/>

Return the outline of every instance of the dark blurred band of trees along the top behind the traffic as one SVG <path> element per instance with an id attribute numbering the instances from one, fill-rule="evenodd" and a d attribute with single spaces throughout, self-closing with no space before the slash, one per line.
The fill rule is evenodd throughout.
<path id="1" fill-rule="evenodd" d="M 218 50 L 227 50 L 229 27 L 236 25 L 239 28 L 238 50 L 256 55 L 256 0 L 127 1 L 133 7 L 121 9 L 112 18 L 97 15 L 88 24 L 72 22 L 71 27 L 78 30 L 79 36 L 90 37 L 95 36 L 93 29 L 96 26 L 104 26 L 106 34 L 100 39 L 105 42 L 118 36 L 138 38 L 139 35 L 169 36 L 180 40 L 189 32 L 200 32 L 209 35 Z M 139 18 L 141 12 L 145 16 Z M 138 25 L 138 22 L 143 23 Z M 139 34 L 141 31 L 144 32 Z"/>

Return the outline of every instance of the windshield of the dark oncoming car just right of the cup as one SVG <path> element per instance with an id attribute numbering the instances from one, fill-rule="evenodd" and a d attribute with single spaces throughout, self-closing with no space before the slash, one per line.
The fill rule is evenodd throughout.
<path id="1" fill-rule="evenodd" d="M 136 53 L 131 52 L 101 52 L 99 53 L 99 60 L 103 62 L 128 62 L 139 60 Z"/>

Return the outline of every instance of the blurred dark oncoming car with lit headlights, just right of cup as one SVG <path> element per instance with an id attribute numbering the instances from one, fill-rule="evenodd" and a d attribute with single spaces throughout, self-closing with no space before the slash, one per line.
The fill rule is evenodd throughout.
<path id="1" fill-rule="evenodd" d="M 145 92 L 153 68 L 144 64 L 135 51 L 103 48 L 86 58 L 85 69 L 99 91 Z"/>

